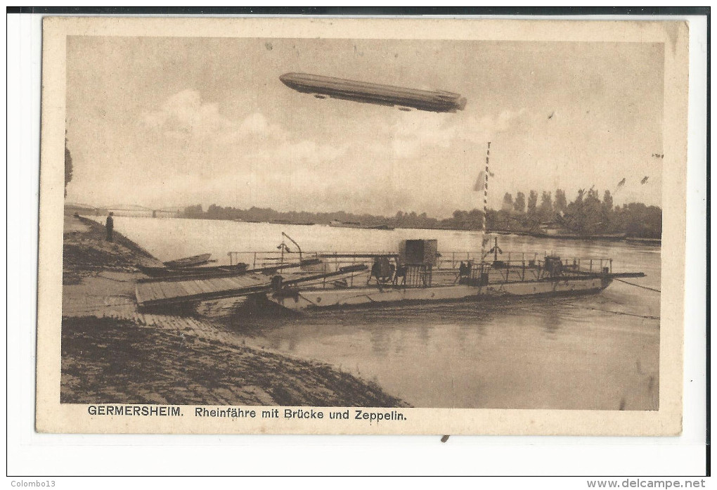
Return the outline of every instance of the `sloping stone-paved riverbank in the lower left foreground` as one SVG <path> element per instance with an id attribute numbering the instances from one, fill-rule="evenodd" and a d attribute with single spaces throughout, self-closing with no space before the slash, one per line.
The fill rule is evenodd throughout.
<path id="1" fill-rule="evenodd" d="M 135 266 L 156 258 L 84 218 L 66 216 L 64 238 L 62 402 L 407 406 L 329 364 L 247 347 L 212 319 L 139 312 Z"/>

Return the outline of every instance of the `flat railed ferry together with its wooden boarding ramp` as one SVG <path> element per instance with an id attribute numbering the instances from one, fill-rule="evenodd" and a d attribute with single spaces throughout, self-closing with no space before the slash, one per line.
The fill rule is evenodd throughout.
<path id="1" fill-rule="evenodd" d="M 499 255 L 500 258 L 499 258 Z M 253 253 L 256 255 L 256 253 Z M 397 253 L 303 253 L 298 261 L 265 263 L 213 275 L 177 275 L 138 281 L 140 307 L 250 297 L 293 311 L 377 306 L 389 303 L 495 301 L 599 293 L 615 278 L 644 277 L 612 271 L 611 258 L 447 253 L 437 240 L 403 240 Z M 276 254 L 276 253 L 273 253 Z M 492 254 L 492 257 L 488 255 Z M 256 261 L 256 258 L 255 258 Z"/>

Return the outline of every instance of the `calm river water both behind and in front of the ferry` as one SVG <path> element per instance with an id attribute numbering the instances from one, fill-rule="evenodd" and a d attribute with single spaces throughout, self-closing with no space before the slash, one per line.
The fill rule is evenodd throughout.
<path id="1" fill-rule="evenodd" d="M 391 251 L 405 238 L 436 238 L 443 257 L 480 251 L 481 237 L 148 217 L 115 217 L 115 229 L 161 260 L 211 252 L 219 263 L 232 250 L 276 250 L 282 231 L 311 251 Z M 613 258 L 614 271 L 647 275 L 630 283 L 660 289 L 660 247 L 514 235 L 499 245 L 502 258 Z M 230 328 L 247 344 L 333 364 L 415 407 L 657 410 L 659 316 L 660 293 L 614 281 L 592 296 L 234 316 Z"/>

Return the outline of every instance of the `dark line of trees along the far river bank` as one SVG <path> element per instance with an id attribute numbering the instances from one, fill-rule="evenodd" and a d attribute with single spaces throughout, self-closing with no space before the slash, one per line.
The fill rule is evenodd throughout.
<path id="1" fill-rule="evenodd" d="M 209 220 L 242 220 L 248 222 L 315 223 L 328 225 L 332 221 L 359 222 L 366 227 L 435 228 L 446 230 L 482 230 L 481 209 L 460 210 L 451 217 L 437 219 L 425 212 L 399 211 L 391 217 L 337 212 L 280 212 L 268 207 L 222 207 L 210 205 L 206 211 L 201 204 L 184 209 L 183 217 Z M 538 232 L 541 226 L 554 225 L 566 232 L 590 236 L 625 233 L 632 237 L 659 238 L 662 235 L 662 209 L 640 202 L 614 206 L 612 194 L 605 191 L 602 199 L 597 190 L 579 189 L 577 197 L 568 202 L 565 192 L 555 194 L 531 190 L 527 196 L 509 192 L 503 196 L 500 209 L 488 209 L 488 230 Z"/>

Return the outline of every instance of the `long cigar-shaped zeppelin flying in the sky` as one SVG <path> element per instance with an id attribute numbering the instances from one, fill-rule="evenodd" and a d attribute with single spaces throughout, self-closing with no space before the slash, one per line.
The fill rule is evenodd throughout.
<path id="1" fill-rule="evenodd" d="M 465 97 L 443 90 L 417 90 L 378 83 L 357 82 L 343 78 L 286 73 L 279 80 L 289 88 L 316 98 L 354 100 L 369 104 L 396 106 L 401 110 L 429 110 L 436 113 L 455 113 L 465 108 Z"/>

